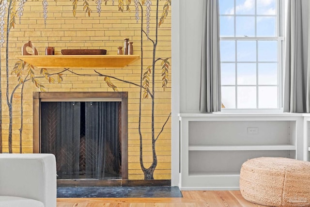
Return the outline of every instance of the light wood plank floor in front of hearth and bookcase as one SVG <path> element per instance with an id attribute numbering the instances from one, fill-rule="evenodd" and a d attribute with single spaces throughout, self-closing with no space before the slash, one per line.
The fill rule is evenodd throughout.
<path id="1" fill-rule="evenodd" d="M 183 198 L 58 198 L 57 207 L 264 207 L 240 191 L 182 191 Z"/>

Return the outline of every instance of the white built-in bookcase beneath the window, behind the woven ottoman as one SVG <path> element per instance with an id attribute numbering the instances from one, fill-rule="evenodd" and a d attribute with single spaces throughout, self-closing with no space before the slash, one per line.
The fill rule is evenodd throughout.
<path id="1" fill-rule="evenodd" d="M 303 158 L 302 115 L 180 114 L 180 122 L 181 190 L 237 190 L 248 159 Z"/>

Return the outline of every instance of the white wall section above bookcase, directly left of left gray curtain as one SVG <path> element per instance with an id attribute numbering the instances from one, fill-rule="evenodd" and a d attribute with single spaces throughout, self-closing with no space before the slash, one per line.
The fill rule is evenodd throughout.
<path id="1" fill-rule="evenodd" d="M 198 113 L 202 50 L 203 0 L 180 0 L 181 67 L 180 112 Z"/>

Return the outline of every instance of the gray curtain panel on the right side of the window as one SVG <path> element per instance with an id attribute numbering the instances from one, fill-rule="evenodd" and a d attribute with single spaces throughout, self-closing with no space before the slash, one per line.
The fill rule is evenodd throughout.
<path id="1" fill-rule="evenodd" d="M 284 112 L 309 112 L 310 108 L 309 2 L 307 1 L 288 2 L 284 57 Z"/>

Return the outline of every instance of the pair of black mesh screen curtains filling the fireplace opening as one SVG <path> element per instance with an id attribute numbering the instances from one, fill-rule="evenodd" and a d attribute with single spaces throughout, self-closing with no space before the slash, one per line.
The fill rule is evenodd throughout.
<path id="1" fill-rule="evenodd" d="M 121 179 L 121 102 L 41 102 L 41 153 L 58 179 Z"/>

